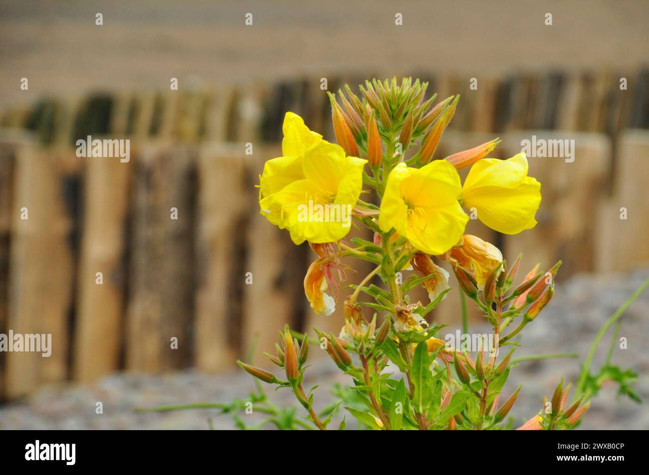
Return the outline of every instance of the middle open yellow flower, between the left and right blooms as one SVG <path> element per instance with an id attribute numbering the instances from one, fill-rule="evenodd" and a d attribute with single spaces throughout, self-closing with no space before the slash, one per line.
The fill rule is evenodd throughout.
<path id="1" fill-rule="evenodd" d="M 399 163 L 387 178 L 378 226 L 384 232 L 395 228 L 426 254 L 444 253 L 469 220 L 458 203 L 460 191 L 458 172 L 445 160 L 419 169 Z"/>

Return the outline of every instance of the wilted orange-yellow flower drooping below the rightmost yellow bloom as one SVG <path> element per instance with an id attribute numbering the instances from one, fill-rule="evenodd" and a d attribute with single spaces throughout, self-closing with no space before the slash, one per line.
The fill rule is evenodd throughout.
<path id="1" fill-rule="evenodd" d="M 484 288 L 487 275 L 497 264 L 502 262 L 502 253 L 490 242 L 477 236 L 465 234 L 457 246 L 448 251 L 443 259 L 453 266 L 460 266 L 472 270 L 476 275 L 478 287 Z"/>

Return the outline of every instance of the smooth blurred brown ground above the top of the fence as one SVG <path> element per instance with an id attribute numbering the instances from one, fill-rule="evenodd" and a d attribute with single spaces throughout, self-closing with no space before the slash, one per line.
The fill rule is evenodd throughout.
<path id="1" fill-rule="evenodd" d="M 346 71 L 635 67 L 646 60 L 648 13 L 646 1 L 2 0 L 0 105 L 168 87 L 172 76 L 182 86 Z"/>

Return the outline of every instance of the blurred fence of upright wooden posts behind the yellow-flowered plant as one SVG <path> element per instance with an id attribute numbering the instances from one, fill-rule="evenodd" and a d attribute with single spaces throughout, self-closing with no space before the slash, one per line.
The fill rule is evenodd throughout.
<path id="1" fill-rule="evenodd" d="M 646 73 L 629 77 L 637 80 L 626 91 L 617 75 L 557 74 L 481 80 L 479 93 L 458 78 L 432 78 L 429 90 L 440 97 L 464 91 L 466 106 L 440 156 L 494 131 L 504 139 L 500 157 L 552 129 L 552 137 L 576 144 L 573 163 L 530 159 L 543 187 L 535 229 L 505 237 L 471 221 L 467 232 L 495 242 L 509 259 L 525 251 L 524 268 L 563 259 L 561 278 L 649 262 L 649 132 L 630 130 L 647 127 Z M 342 82 L 330 79 L 329 87 Z M 49 358 L 0 353 L 0 398 L 120 369 L 223 371 L 255 334 L 262 364 L 259 355 L 272 350 L 284 323 L 339 331 L 341 312 L 315 316 L 302 293 L 310 249 L 260 216 L 254 188 L 263 161 L 280 154 L 286 111 L 332 136 L 319 84 L 92 95 L 4 111 L 0 333 L 50 333 L 53 349 Z M 86 135 L 130 138 L 129 163 L 75 156 L 71 145 Z M 621 208 L 628 219 L 620 220 Z M 450 297 L 433 318 L 458 314 Z"/>

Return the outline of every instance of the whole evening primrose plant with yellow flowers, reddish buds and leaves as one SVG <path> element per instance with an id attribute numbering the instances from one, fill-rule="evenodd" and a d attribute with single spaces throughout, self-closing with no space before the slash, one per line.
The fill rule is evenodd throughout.
<path id="1" fill-rule="evenodd" d="M 500 233 L 534 227 L 541 184 L 528 176 L 524 154 L 505 160 L 487 157 L 498 139 L 435 157 L 459 96 L 435 104 L 435 96 L 425 99 L 427 86 L 410 78 L 399 84 L 393 78 L 365 82 L 360 95 L 348 86 L 346 94 L 330 94 L 336 144 L 287 113 L 282 156 L 267 161 L 260 176 L 260 212 L 287 229 L 295 244 L 308 241 L 317 254 L 304 278 L 316 313 L 334 312 L 345 279 L 342 257 L 375 266 L 359 284 L 349 286 L 354 292 L 343 304 L 340 334 L 316 330 L 321 347 L 354 382 L 365 410 L 347 409 L 363 426 L 501 428 L 519 391 L 498 406 L 512 367 L 511 353 L 496 360 L 498 347 L 511 345 L 550 301 L 561 262 L 546 273 L 537 266 L 514 285 L 520 255 L 508 266 L 496 246 L 465 235 L 467 211 Z M 458 170 L 466 167 L 471 168 L 462 183 Z M 345 212 L 356 226 L 367 227 L 373 239 L 348 242 Z M 495 338 L 471 349 L 474 357 L 436 338 L 440 327 L 426 321 L 450 290 L 450 272 L 442 265 L 452 270 L 461 292 L 493 327 Z M 397 274 L 406 269 L 414 272 L 400 282 Z M 419 286 L 428 292 L 427 303 L 410 299 Z M 361 294 L 371 300 L 362 301 Z M 373 312 L 371 319 L 363 308 Z M 308 335 L 298 338 L 286 328 L 281 340 L 276 355 L 267 357 L 284 369 L 286 380 L 239 364 L 265 382 L 293 389 L 313 423 L 326 428 L 337 408 L 322 421 L 313 411 L 312 391 L 302 389 Z M 398 377 L 391 378 L 395 371 Z M 566 397 L 562 392 L 561 410 Z M 577 404 L 565 411 L 570 417 L 560 418 L 561 427 L 574 426 L 585 409 Z M 559 421 L 539 417 L 523 428 L 554 428 Z"/>

